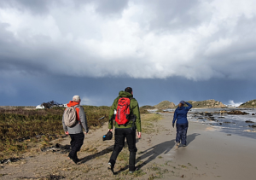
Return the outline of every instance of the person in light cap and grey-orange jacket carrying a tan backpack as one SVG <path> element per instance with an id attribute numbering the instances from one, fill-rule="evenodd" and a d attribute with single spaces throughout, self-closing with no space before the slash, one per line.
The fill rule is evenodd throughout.
<path id="1" fill-rule="evenodd" d="M 67 108 L 62 116 L 62 125 L 65 134 L 71 138 L 71 151 L 68 157 L 75 164 L 79 162 L 77 153 L 84 143 L 84 134 L 87 134 L 89 131 L 84 108 L 80 106 L 80 102 L 81 99 L 79 96 L 73 96 L 73 101 L 67 103 Z"/>

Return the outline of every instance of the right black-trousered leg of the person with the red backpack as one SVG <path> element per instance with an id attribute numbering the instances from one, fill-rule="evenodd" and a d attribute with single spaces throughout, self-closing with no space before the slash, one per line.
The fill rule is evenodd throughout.
<path id="1" fill-rule="evenodd" d="M 136 130 L 133 128 L 125 129 L 126 134 L 126 141 L 128 144 L 128 148 L 130 151 L 130 158 L 129 158 L 129 171 L 135 171 L 135 163 L 136 163 Z"/>

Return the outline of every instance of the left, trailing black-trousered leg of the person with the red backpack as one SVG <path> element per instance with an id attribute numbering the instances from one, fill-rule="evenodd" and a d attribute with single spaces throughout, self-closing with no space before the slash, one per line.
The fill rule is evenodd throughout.
<path id="1" fill-rule="evenodd" d="M 114 145 L 113 145 L 113 152 L 110 156 L 110 160 L 108 161 L 108 165 L 110 165 L 110 170 L 113 171 L 113 166 L 115 161 L 125 146 L 125 133 L 123 129 L 116 128 L 114 130 Z"/>

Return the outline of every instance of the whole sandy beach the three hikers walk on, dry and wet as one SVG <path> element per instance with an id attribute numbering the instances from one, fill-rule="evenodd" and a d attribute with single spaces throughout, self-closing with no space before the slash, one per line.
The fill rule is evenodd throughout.
<path id="1" fill-rule="evenodd" d="M 116 175 L 107 170 L 113 140 L 102 142 L 108 126 L 90 131 L 79 152 L 82 160 L 73 165 L 67 154 L 53 152 L 25 156 L 15 163 L 1 165 L 0 179 L 256 179 L 255 139 L 227 135 L 207 125 L 189 123 L 188 146 L 175 148 L 172 113 L 154 123 L 154 131 L 143 133 L 137 142 L 137 166 L 129 174 L 127 147 L 119 154 Z M 62 145 L 69 144 L 69 137 Z"/>

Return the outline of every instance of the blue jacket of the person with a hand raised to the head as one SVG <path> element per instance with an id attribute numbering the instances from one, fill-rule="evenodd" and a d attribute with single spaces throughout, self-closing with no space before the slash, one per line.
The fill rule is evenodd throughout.
<path id="1" fill-rule="evenodd" d="M 177 123 L 176 124 L 188 123 L 187 113 L 189 112 L 189 109 L 192 107 L 192 105 L 189 104 L 189 102 L 185 102 L 185 103 L 189 107 L 177 107 L 177 109 L 174 112 L 172 124 L 175 123 L 176 119 L 177 119 Z"/>

